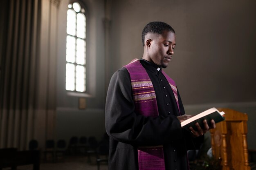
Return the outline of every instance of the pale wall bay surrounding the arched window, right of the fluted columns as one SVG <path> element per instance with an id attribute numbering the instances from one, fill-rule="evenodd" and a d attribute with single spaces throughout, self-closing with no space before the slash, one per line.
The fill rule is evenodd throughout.
<path id="1" fill-rule="evenodd" d="M 80 0 L 87 19 L 86 73 L 87 93 L 65 90 L 66 10 L 69 0 L 61 0 L 58 12 L 56 140 L 72 136 L 95 136 L 105 132 L 105 58 L 104 58 L 104 3 L 103 0 Z M 85 98 L 85 109 L 79 109 L 79 97 Z"/>

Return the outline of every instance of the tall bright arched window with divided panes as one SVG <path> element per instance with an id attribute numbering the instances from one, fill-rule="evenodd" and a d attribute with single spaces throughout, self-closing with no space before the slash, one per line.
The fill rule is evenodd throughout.
<path id="1" fill-rule="evenodd" d="M 86 17 L 78 2 L 68 4 L 66 90 L 86 91 Z"/>

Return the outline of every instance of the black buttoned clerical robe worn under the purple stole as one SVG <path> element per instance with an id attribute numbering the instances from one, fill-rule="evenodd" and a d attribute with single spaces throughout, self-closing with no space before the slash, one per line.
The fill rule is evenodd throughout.
<path id="1" fill-rule="evenodd" d="M 177 104 L 162 69 L 140 60 L 154 86 L 158 117 L 135 113 L 130 75 L 126 68 L 114 73 L 106 99 L 106 131 L 110 136 L 109 170 L 138 170 L 138 146 L 163 145 L 166 170 L 187 170 L 187 150 L 199 149 L 203 136 L 192 138 L 181 128 L 177 116 L 184 115 L 178 93 Z"/>

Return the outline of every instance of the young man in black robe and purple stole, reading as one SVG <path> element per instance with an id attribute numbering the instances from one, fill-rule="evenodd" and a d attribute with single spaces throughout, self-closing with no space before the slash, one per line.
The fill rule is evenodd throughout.
<path id="1" fill-rule="evenodd" d="M 175 31 L 150 22 L 142 31 L 144 54 L 114 73 L 106 99 L 109 170 L 188 170 L 187 150 L 199 149 L 210 128 L 187 131 L 175 82 L 162 71 L 175 49 Z M 210 127 L 209 127 L 210 126 Z"/>

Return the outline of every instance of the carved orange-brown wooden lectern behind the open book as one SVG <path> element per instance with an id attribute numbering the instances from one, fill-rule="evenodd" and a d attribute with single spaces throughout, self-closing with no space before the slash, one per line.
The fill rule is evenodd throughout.
<path id="1" fill-rule="evenodd" d="M 225 121 L 210 130 L 213 156 L 222 159 L 222 170 L 251 170 L 247 150 L 247 114 L 229 108 L 218 110 L 225 112 Z"/>

